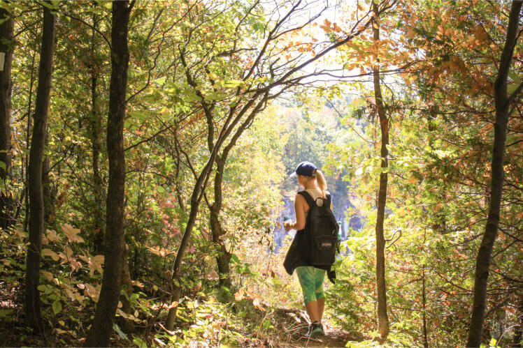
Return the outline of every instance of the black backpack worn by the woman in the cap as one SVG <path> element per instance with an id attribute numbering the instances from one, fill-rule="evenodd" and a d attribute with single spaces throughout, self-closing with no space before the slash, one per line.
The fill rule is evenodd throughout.
<path id="1" fill-rule="evenodd" d="M 308 245 L 308 262 L 313 266 L 331 266 L 336 258 L 340 228 L 331 211 L 331 195 L 327 195 L 327 199 L 313 199 L 306 191 L 299 193 L 309 205 L 304 231 Z M 316 204 L 318 199 L 323 201 L 322 206 Z"/>

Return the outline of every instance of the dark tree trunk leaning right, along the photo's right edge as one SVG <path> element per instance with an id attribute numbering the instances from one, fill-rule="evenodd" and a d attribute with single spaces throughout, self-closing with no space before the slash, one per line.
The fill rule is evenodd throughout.
<path id="1" fill-rule="evenodd" d="M 501 192 L 503 188 L 503 158 L 505 156 L 508 109 L 510 107 L 507 96 L 507 76 L 516 45 L 521 7 L 522 1 L 513 1 L 510 8 L 506 42 L 501 54 L 498 76 L 494 83 L 496 121 L 494 123 L 494 146 L 492 149 L 489 215 L 487 217 L 487 225 L 485 226 L 485 234 L 483 234 L 478 257 L 476 258 L 474 298 L 471 322 L 468 326 L 467 347 L 479 347 L 481 344 L 490 259 L 498 233 Z"/>

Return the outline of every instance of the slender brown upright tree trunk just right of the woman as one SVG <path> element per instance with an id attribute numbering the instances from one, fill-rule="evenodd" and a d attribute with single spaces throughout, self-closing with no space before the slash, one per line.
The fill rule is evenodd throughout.
<path id="1" fill-rule="evenodd" d="M 380 40 L 380 27 L 379 27 L 379 11 L 378 5 L 373 2 L 373 12 L 375 16 L 375 22 L 373 24 L 373 38 L 374 42 L 378 43 Z M 387 317 L 387 290 L 385 285 L 385 236 L 383 229 L 383 220 L 385 220 L 385 203 L 387 202 L 387 172 L 385 169 L 388 167 L 387 156 L 389 151 L 387 145 L 389 144 L 389 120 L 385 115 L 385 107 L 383 105 L 383 98 L 381 93 L 380 85 L 380 68 L 379 68 L 379 57 L 376 56 L 376 66 L 373 67 L 373 82 L 374 82 L 374 97 L 376 103 L 376 112 L 380 119 L 381 129 L 381 167 L 382 173 L 380 174 L 380 188 L 378 190 L 378 208 L 376 215 L 376 287 L 378 292 L 378 333 L 380 342 L 385 342 L 387 335 L 389 334 L 389 318 Z"/>

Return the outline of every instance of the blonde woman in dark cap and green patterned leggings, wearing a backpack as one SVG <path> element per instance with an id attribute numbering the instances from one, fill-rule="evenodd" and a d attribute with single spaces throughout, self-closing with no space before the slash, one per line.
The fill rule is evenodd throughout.
<path id="1" fill-rule="evenodd" d="M 334 271 L 330 268 L 338 242 L 338 224 L 331 212 L 331 196 L 327 192 L 327 183 L 322 172 L 311 162 L 301 162 L 293 174 L 296 174 L 299 186 L 304 190 L 298 192 L 294 199 L 296 222 L 285 224 L 287 232 L 291 229 L 297 232 L 283 265 L 289 274 L 296 270 L 303 301 L 312 323 L 306 335 L 316 338 L 325 334 L 322 326 L 325 307 L 323 282 L 326 273 L 329 280 L 334 282 Z M 312 216 L 311 208 L 316 211 Z M 317 211 L 321 213 L 320 218 L 317 218 Z M 313 218 L 316 220 L 313 221 Z"/>

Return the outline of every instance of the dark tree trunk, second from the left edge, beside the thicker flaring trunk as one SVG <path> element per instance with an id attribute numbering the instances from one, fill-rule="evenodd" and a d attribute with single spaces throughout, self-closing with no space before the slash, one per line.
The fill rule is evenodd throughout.
<path id="1" fill-rule="evenodd" d="M 29 246 L 27 248 L 25 321 L 31 328 L 41 329 L 40 252 L 43 233 L 42 160 L 45 126 L 48 118 L 51 91 L 52 55 L 55 48 L 55 15 L 43 8 L 42 45 L 38 87 L 34 110 L 33 135 L 29 150 Z"/>

